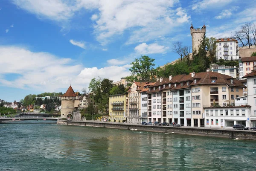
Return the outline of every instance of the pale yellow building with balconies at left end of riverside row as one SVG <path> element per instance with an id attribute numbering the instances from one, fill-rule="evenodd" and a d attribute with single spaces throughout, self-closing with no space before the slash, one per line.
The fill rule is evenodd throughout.
<path id="1" fill-rule="evenodd" d="M 116 94 L 109 96 L 109 118 L 111 122 L 122 122 L 125 120 L 126 110 L 126 96 L 125 94 Z"/>

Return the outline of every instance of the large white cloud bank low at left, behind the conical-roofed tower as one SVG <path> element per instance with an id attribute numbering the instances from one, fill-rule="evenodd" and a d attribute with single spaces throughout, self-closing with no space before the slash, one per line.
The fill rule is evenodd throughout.
<path id="1" fill-rule="evenodd" d="M 70 83 L 75 90 L 81 90 L 94 77 L 118 81 L 129 75 L 129 65 L 84 68 L 70 58 L 59 58 L 47 52 L 32 52 L 17 46 L 0 46 L 0 59 L 1 86 L 41 92 L 66 90 Z M 19 76 L 12 78 L 12 74 Z M 6 76 L 9 78 L 5 79 Z"/>

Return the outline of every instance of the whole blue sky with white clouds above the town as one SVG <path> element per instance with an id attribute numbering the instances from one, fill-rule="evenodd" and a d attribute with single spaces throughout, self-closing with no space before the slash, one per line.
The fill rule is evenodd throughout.
<path id="1" fill-rule="evenodd" d="M 252 0 L 1 0 L 0 99 L 81 91 L 94 77 L 118 81 L 140 55 L 174 61 L 189 27 L 230 37 L 256 20 Z"/>

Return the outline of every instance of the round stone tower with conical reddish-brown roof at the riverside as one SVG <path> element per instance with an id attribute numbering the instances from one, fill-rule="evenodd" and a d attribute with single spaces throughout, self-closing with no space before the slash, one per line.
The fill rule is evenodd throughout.
<path id="1" fill-rule="evenodd" d="M 78 95 L 74 92 L 73 88 L 67 89 L 67 92 L 61 97 L 61 118 L 73 118 L 73 110 L 75 109 L 75 100 Z"/>

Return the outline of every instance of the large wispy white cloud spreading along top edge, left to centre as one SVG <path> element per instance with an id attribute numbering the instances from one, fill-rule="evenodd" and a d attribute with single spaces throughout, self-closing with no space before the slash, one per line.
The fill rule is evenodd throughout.
<path id="1" fill-rule="evenodd" d="M 179 0 L 13 0 L 18 7 L 57 22 L 72 20 L 80 10 L 91 12 L 96 40 L 102 44 L 130 30 L 127 44 L 153 40 L 188 22 Z"/>

